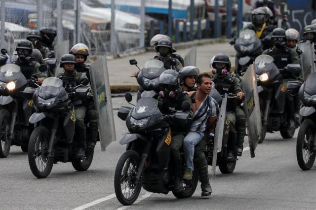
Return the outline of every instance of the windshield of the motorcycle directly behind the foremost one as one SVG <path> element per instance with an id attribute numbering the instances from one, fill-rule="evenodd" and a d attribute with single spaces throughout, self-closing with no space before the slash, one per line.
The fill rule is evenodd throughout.
<path id="1" fill-rule="evenodd" d="M 163 63 L 158 60 L 147 61 L 142 69 L 143 76 L 148 79 L 157 78 L 164 70 Z"/>

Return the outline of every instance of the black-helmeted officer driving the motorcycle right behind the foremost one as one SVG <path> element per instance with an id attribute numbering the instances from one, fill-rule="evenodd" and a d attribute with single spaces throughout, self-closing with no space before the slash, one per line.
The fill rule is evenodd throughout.
<path id="1" fill-rule="evenodd" d="M 172 42 L 168 39 L 161 39 L 156 47 L 158 55 L 154 57 L 164 64 L 165 69 L 173 69 L 179 71 L 183 66 L 178 59 L 172 58 Z"/>

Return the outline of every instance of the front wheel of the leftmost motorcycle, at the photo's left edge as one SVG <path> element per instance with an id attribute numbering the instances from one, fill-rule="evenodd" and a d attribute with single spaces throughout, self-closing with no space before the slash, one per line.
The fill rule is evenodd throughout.
<path id="1" fill-rule="evenodd" d="M 0 158 L 8 156 L 11 148 L 10 132 L 10 114 L 6 109 L 0 110 Z"/>

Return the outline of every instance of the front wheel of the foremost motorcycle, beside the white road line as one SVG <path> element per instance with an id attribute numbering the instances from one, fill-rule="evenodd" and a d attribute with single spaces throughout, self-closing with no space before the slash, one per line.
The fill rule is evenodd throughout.
<path id="1" fill-rule="evenodd" d="M 131 165 L 132 164 L 132 165 Z M 139 196 L 139 193 L 142 189 L 141 182 L 134 183 L 134 180 L 137 176 L 137 170 L 140 164 L 140 156 L 134 150 L 125 151 L 120 158 L 118 159 L 117 167 L 115 169 L 114 175 L 114 190 L 117 196 L 119 203 L 122 205 L 131 205 L 133 204 Z M 127 169 L 125 168 L 127 165 Z M 130 168 L 131 167 L 131 168 Z M 123 174 L 122 174 L 123 173 Z M 132 195 L 129 198 L 126 198 L 123 194 L 124 189 L 122 189 L 122 181 L 126 180 L 126 185 L 128 191 L 130 189 L 134 190 Z M 126 193 L 126 191 L 125 191 Z"/>

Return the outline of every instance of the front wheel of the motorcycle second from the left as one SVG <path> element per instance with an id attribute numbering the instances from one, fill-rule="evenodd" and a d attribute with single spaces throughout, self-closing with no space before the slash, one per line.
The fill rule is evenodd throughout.
<path id="1" fill-rule="evenodd" d="M 28 158 L 30 169 L 38 178 L 47 177 L 53 168 L 54 155 L 47 157 L 48 143 L 48 129 L 43 126 L 35 128 L 29 141 Z"/>

